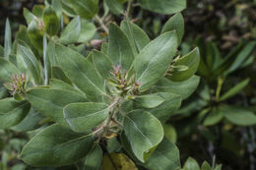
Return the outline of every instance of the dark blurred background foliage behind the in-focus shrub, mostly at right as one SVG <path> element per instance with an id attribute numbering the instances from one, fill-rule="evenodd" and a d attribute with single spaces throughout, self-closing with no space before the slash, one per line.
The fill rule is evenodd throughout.
<path id="1" fill-rule="evenodd" d="M 34 5 L 43 3 L 43 0 L 1 0 L 1 44 L 6 18 L 10 20 L 12 31 L 16 32 L 19 25 L 26 25 L 23 8 L 32 11 Z M 99 13 L 103 12 L 102 8 L 101 5 Z M 180 54 L 186 54 L 196 46 L 200 48 L 198 75 L 201 83 L 197 92 L 170 118 L 164 130 L 178 145 L 182 164 L 192 156 L 200 164 L 204 160 L 217 161 L 225 170 L 256 169 L 253 121 L 256 113 L 256 1 L 189 0 L 182 15 L 185 35 Z M 160 33 L 169 17 L 141 10 L 136 4 L 132 9 L 133 22 L 151 38 Z M 107 20 L 119 23 L 122 19 L 111 15 Z M 64 22 L 69 23 L 68 18 Z M 94 38 L 105 36 L 101 32 Z M 237 114 L 228 117 L 222 111 L 226 107 Z M 248 116 L 241 118 L 239 114 Z M 0 132 L 0 169 L 21 169 L 23 165 L 18 153 L 26 140 L 28 135 L 23 133 Z"/>

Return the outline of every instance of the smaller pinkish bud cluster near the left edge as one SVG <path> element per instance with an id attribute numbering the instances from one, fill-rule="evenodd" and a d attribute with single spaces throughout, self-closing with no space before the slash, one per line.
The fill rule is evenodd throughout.
<path id="1" fill-rule="evenodd" d="M 11 91 L 11 94 L 20 93 L 24 94 L 27 88 L 27 78 L 26 74 L 14 75 L 11 79 L 11 83 L 4 84 L 7 89 Z"/>

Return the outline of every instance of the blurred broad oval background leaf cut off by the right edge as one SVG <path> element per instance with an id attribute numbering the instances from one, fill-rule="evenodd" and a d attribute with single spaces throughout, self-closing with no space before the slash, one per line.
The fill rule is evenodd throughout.
<path id="1" fill-rule="evenodd" d="M 236 106 L 223 106 L 220 108 L 225 119 L 238 126 L 252 126 L 256 124 L 256 115 L 248 110 Z"/>

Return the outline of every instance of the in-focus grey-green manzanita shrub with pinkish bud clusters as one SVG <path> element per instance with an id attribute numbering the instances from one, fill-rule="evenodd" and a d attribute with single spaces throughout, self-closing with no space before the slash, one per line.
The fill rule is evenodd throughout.
<path id="1" fill-rule="evenodd" d="M 198 49 L 182 57 L 177 51 L 182 15 L 171 17 L 154 40 L 129 21 L 110 24 L 108 42 L 83 56 L 71 29 L 80 18 L 58 37 L 48 26 L 55 26 L 56 14 L 50 7 L 48 14 L 54 15 L 43 18 L 43 36 L 29 30 L 25 41 L 20 32 L 15 52 L 9 38 L 0 58 L 0 128 L 34 130 L 38 114 L 36 122 L 44 125 L 21 159 L 32 167 L 180 169 L 178 148 L 162 126 L 199 84 Z M 41 22 L 34 19 L 29 29 Z"/>

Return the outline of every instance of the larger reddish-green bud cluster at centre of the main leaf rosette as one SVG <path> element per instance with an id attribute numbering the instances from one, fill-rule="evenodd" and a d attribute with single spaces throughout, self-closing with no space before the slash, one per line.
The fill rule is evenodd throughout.
<path id="1" fill-rule="evenodd" d="M 128 73 L 121 69 L 121 65 L 112 66 L 113 71 L 110 71 L 112 78 L 108 80 L 108 84 L 112 86 L 111 93 L 113 95 L 125 96 L 132 99 L 140 92 L 140 84 L 135 80 L 135 75 L 130 78 Z"/>

